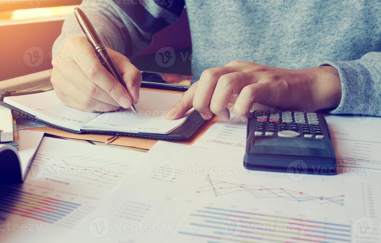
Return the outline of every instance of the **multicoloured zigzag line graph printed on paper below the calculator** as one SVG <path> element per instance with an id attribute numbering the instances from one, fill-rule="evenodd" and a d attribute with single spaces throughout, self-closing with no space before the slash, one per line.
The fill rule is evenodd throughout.
<path id="1" fill-rule="evenodd" d="M 214 193 L 216 197 L 231 193 L 246 192 L 255 198 L 282 198 L 297 202 L 314 201 L 320 205 L 335 203 L 344 206 L 344 195 L 325 197 L 323 195 L 312 195 L 287 188 L 267 188 L 262 185 L 237 184 L 227 181 L 213 181 L 210 175 L 207 175 L 208 185 L 202 186 L 196 193 Z"/>

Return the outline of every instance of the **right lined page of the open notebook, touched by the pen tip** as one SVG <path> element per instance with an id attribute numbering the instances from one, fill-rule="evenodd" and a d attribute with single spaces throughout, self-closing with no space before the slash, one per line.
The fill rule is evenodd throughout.
<path id="1" fill-rule="evenodd" d="M 180 98 L 181 94 L 141 91 L 139 102 L 135 105 L 138 114 L 130 109 L 105 112 L 84 125 L 82 129 L 168 134 L 184 123 L 194 111 L 192 109 L 184 117 L 177 120 L 166 120 L 164 118 L 165 113 Z"/>

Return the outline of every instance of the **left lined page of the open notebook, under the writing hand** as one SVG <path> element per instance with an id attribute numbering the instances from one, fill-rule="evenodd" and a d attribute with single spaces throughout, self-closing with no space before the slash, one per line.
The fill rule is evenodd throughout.
<path id="1" fill-rule="evenodd" d="M 10 96 L 4 98 L 4 102 L 41 120 L 75 131 L 80 131 L 82 125 L 102 114 L 102 112 L 88 113 L 65 106 L 59 101 L 54 90 L 38 94 Z"/>

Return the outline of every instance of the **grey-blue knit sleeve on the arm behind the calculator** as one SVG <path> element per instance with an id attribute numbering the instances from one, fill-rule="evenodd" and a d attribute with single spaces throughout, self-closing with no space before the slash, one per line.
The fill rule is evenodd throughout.
<path id="1" fill-rule="evenodd" d="M 355 61 L 326 61 L 338 70 L 341 102 L 331 114 L 363 114 L 381 117 L 381 52 L 370 52 Z"/>

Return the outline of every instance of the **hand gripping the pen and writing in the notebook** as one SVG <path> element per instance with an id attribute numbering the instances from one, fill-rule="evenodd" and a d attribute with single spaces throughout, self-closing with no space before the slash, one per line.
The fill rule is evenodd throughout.
<path id="1" fill-rule="evenodd" d="M 54 57 L 51 83 L 67 106 L 87 112 L 129 108 L 138 102 L 142 75 L 126 58 L 107 49 L 128 91 L 102 65 L 85 37 L 71 37 Z"/>

